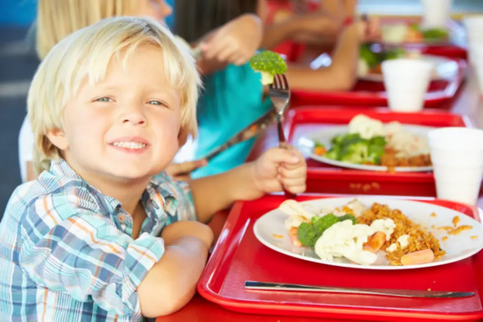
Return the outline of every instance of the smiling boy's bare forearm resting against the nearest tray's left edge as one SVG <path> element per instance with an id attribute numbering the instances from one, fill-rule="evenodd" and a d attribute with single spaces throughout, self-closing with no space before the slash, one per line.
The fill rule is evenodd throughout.
<path id="1" fill-rule="evenodd" d="M 156 318 L 186 305 L 196 292 L 207 254 L 206 244 L 196 237 L 182 237 L 166 246 L 138 287 L 142 315 Z"/>

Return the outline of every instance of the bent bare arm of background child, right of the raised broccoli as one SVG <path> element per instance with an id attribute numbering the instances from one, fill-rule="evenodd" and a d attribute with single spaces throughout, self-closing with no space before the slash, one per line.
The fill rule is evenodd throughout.
<path id="1" fill-rule="evenodd" d="M 289 66 L 286 74 L 294 89 L 349 90 L 356 80 L 358 57 L 357 29 L 350 26 L 340 36 L 330 67 L 314 71 L 310 67 Z"/>

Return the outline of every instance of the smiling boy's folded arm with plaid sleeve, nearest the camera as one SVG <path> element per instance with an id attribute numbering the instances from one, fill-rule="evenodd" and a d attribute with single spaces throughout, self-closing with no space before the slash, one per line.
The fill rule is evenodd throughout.
<path id="1" fill-rule="evenodd" d="M 185 230 L 165 248 L 162 238 L 147 233 L 133 240 L 88 210 L 90 201 L 72 197 L 47 195 L 28 210 L 19 265 L 30 279 L 119 315 L 155 317 L 186 304 L 211 243 L 200 234 L 209 235 L 209 228 Z"/>

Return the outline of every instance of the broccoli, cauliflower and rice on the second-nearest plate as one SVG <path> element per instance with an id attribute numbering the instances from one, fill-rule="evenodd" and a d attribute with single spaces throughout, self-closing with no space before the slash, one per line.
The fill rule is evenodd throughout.
<path id="1" fill-rule="evenodd" d="M 406 131 L 399 122 L 383 124 L 363 114 L 349 122 L 349 133 L 331 139 L 329 149 L 315 142 L 312 153 L 347 163 L 389 168 L 431 165 L 427 138 Z"/>

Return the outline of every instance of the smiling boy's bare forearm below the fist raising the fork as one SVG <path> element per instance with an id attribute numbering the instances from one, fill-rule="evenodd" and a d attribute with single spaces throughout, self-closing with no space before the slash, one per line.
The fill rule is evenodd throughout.
<path id="1" fill-rule="evenodd" d="M 253 164 L 246 163 L 225 173 L 190 182 L 198 221 L 208 222 L 216 212 L 230 207 L 236 200 L 258 195 Z"/>

